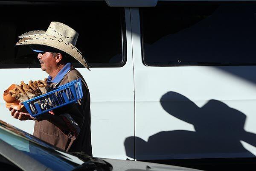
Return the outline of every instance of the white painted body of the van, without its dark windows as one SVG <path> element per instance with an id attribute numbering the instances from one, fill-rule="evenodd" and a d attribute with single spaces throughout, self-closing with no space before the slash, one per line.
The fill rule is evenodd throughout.
<path id="1" fill-rule="evenodd" d="M 131 6 L 108 1 L 125 11 L 125 65 L 91 71 L 78 68 L 90 90 L 93 156 L 131 160 L 255 157 L 256 66 L 145 65 L 140 7 L 157 1 L 145 6 L 140 2 Z M 16 80 L 47 77 L 40 68 L 0 69 L 0 75 L 1 92 Z M 1 120 L 33 133 L 34 121 L 12 118 L 3 99 L 0 103 Z"/>

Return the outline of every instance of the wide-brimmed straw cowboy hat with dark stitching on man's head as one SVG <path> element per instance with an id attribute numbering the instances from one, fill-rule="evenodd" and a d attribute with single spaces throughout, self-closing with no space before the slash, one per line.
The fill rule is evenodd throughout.
<path id="1" fill-rule="evenodd" d="M 82 53 L 75 47 L 78 33 L 61 22 L 51 22 L 47 31 L 29 31 L 19 36 L 16 45 L 44 45 L 61 50 L 73 56 L 89 70 Z"/>

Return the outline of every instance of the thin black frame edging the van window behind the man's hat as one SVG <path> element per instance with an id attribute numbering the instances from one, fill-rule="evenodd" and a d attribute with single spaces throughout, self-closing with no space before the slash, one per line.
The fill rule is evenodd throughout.
<path id="1" fill-rule="evenodd" d="M 37 2 L 36 4 L 38 5 L 51 5 L 51 4 L 60 4 L 62 1 L 52 1 L 52 2 L 44 2 L 44 1 L 40 1 Z M 89 1 L 89 2 L 81 2 L 81 1 L 65 1 L 65 3 L 69 4 L 69 3 L 105 3 L 105 1 L 99 2 L 99 1 Z M 37 6 L 35 3 L 31 2 L 31 1 L 23 1 L 23 2 L 0 2 L 0 5 L 15 5 L 15 6 L 23 6 L 23 5 L 34 5 Z M 107 5 L 107 3 L 106 3 Z M 109 8 L 114 8 L 114 7 L 109 7 Z M 116 63 L 116 64 L 111 64 L 111 63 L 89 63 L 90 68 L 101 68 L 101 67 L 123 67 L 126 64 L 127 61 L 127 41 L 126 41 L 126 24 L 125 24 L 125 8 L 124 7 L 117 7 L 120 8 L 119 9 L 119 13 L 120 13 L 120 24 L 121 24 L 121 41 L 120 43 L 122 43 L 122 62 L 120 63 Z M 1 22 L 1 21 L 0 21 Z M 84 68 L 84 66 L 82 64 L 73 64 L 74 67 L 76 68 Z M 0 69 L 12 69 L 12 68 L 41 68 L 40 64 L 0 64 Z"/>

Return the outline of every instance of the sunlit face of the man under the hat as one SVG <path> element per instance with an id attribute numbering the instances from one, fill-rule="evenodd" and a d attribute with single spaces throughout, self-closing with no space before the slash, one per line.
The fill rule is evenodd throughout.
<path id="1" fill-rule="evenodd" d="M 41 64 L 41 69 L 48 74 L 52 73 L 57 66 L 55 56 L 50 52 L 38 53 L 38 59 Z"/>

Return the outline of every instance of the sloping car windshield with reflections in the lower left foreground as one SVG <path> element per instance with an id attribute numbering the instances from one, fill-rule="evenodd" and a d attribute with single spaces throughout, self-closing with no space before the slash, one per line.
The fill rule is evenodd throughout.
<path id="1" fill-rule="evenodd" d="M 84 163 L 78 157 L 44 143 L 38 138 L 0 121 L 0 139 L 52 170 L 70 171 Z"/>

